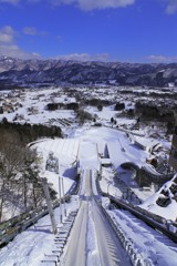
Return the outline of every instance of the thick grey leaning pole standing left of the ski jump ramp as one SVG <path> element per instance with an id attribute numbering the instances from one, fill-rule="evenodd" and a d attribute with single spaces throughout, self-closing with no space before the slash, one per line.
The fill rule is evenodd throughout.
<path id="1" fill-rule="evenodd" d="M 44 191 L 45 198 L 46 198 L 48 211 L 49 211 L 49 214 L 51 217 L 53 234 L 55 235 L 58 233 L 58 229 L 56 229 L 56 223 L 55 223 L 55 218 L 54 218 L 54 213 L 53 213 L 53 208 L 52 208 L 52 202 L 51 202 L 51 197 L 50 197 L 50 193 L 49 193 L 49 185 L 48 185 L 46 178 L 42 178 L 42 185 L 43 185 L 43 191 Z"/>

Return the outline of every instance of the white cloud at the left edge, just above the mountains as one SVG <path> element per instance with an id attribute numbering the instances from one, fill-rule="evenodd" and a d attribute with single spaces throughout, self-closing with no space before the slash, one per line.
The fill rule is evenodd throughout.
<path id="1" fill-rule="evenodd" d="M 15 41 L 17 32 L 11 25 L 6 25 L 0 29 L 0 55 L 12 58 L 39 58 L 37 53 L 28 53 L 19 48 Z"/>

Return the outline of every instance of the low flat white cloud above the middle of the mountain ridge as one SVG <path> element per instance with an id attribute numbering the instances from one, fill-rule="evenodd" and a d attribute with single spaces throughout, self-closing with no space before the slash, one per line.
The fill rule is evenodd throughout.
<path id="1" fill-rule="evenodd" d="M 72 53 L 72 54 L 63 54 L 58 55 L 55 59 L 61 60 L 75 60 L 75 61 L 110 61 L 108 53 L 98 53 L 98 54 L 90 54 L 90 53 Z"/>

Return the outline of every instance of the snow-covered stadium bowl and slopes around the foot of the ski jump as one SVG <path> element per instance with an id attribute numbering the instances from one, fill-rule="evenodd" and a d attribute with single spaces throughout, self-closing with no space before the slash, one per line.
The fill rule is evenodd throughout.
<path id="1" fill-rule="evenodd" d="M 144 165 L 146 158 L 149 156 L 148 152 L 133 144 L 124 132 L 111 127 L 83 126 L 72 132 L 65 140 L 43 140 L 33 146 L 38 147 L 38 151 L 43 157 L 43 175 L 48 177 L 50 183 L 53 183 L 53 188 L 56 192 L 59 191 L 59 175 L 44 170 L 50 151 L 53 151 L 59 158 L 60 175 L 64 176 L 64 191 L 67 192 L 74 183 L 73 177 L 76 161 L 79 161 L 79 168 L 81 170 L 87 167 L 100 171 L 101 160 L 98 157 L 98 150 L 104 151 L 105 146 L 107 146 L 113 170 L 115 170 L 121 180 L 123 180 L 127 186 L 132 187 L 132 191 L 145 202 L 142 207 L 168 219 L 176 219 L 176 201 L 173 201 L 171 204 L 165 208 L 157 206 L 155 202 L 158 198 L 158 193 L 154 194 L 153 190 L 139 190 L 131 176 L 132 173 L 123 171 L 119 167 L 126 162 L 132 162 L 138 166 Z M 112 170 L 105 168 L 102 173 L 101 187 L 104 192 L 121 197 L 122 192 L 114 186 L 114 174 Z"/>

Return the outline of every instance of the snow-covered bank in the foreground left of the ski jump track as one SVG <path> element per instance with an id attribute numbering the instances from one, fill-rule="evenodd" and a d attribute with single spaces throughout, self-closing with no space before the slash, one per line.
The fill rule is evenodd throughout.
<path id="1" fill-rule="evenodd" d="M 66 204 L 66 212 L 70 214 L 76 211 L 80 202 L 73 198 Z M 62 228 L 60 224 L 60 208 L 54 211 L 54 217 L 58 232 Z M 46 259 L 45 254 L 52 254 L 56 248 L 54 242 L 55 235 L 52 234 L 50 216 L 41 218 L 34 226 L 29 227 L 25 232 L 19 234 L 11 243 L 0 249 L 1 266 L 40 266 L 41 260 Z"/>

